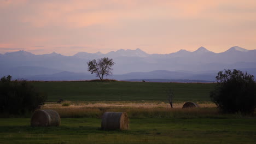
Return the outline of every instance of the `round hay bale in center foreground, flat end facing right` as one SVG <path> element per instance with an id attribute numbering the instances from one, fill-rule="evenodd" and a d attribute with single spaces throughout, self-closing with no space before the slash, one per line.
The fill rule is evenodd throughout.
<path id="1" fill-rule="evenodd" d="M 105 112 L 101 121 L 102 130 L 128 130 L 129 118 L 126 112 Z"/>

